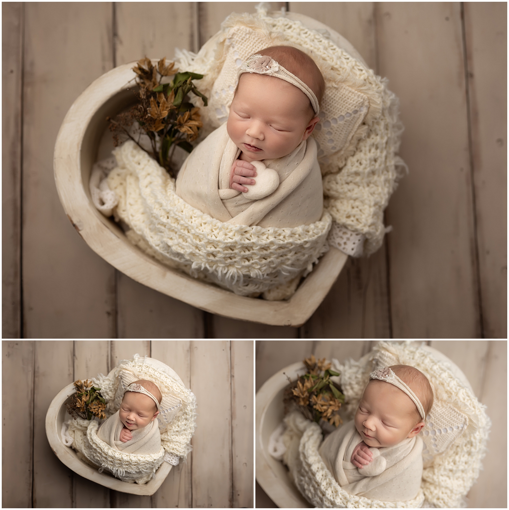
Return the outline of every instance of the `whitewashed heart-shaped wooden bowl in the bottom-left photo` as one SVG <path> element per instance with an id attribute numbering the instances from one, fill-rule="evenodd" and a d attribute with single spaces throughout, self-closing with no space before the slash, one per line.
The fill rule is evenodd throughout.
<path id="1" fill-rule="evenodd" d="M 166 364 L 155 360 L 154 358 L 145 358 L 145 363 L 149 363 L 150 365 L 154 365 L 157 369 L 163 370 L 170 377 L 184 386 L 179 375 L 177 375 L 176 372 Z M 108 377 L 113 378 L 115 370 L 116 367 L 111 370 Z M 99 473 L 97 469 L 94 469 L 89 464 L 80 460 L 76 452 L 70 446 L 64 445 L 60 434 L 62 423 L 72 419 L 72 417 L 67 413 L 65 404 L 69 402 L 69 397 L 74 393 L 76 393 L 74 384 L 71 383 L 70 385 L 67 385 L 52 400 L 52 403 L 49 404 L 48 411 L 46 413 L 46 436 L 48 438 L 49 446 L 51 446 L 55 455 L 57 455 L 57 457 L 75 473 L 78 473 L 80 476 L 88 478 L 95 483 L 108 487 L 109 489 L 129 494 L 139 494 L 141 496 L 151 496 L 154 494 L 161 487 L 161 484 L 171 471 L 172 466 L 167 462 L 163 462 L 161 464 L 161 466 L 157 469 L 154 478 L 144 485 L 139 485 L 138 483 L 129 483 L 119 480 L 106 471 Z"/>

